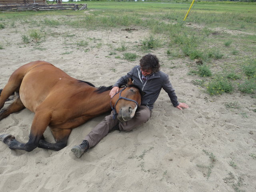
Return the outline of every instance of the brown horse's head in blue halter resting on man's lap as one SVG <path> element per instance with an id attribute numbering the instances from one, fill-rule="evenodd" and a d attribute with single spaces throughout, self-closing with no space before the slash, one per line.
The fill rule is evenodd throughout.
<path id="1" fill-rule="evenodd" d="M 132 119 L 141 103 L 140 89 L 134 86 L 130 78 L 127 85 L 126 88 L 120 88 L 120 91 L 111 100 L 111 106 L 118 113 L 117 118 L 120 122 Z"/>

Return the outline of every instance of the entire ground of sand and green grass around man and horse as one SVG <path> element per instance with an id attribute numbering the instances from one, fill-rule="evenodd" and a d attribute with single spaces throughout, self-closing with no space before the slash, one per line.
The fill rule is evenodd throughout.
<path id="1" fill-rule="evenodd" d="M 191 1 L 78 3 L 88 10 L 0 13 L 1 88 L 34 60 L 109 86 L 152 53 L 190 108 L 172 108 L 162 91 L 146 124 L 108 134 L 80 160 L 70 148 L 105 115 L 59 152 L 1 143 L 0 190 L 255 191 L 256 3 L 197 2 L 185 22 Z M 33 117 L 10 115 L 2 134 L 28 140 Z"/>

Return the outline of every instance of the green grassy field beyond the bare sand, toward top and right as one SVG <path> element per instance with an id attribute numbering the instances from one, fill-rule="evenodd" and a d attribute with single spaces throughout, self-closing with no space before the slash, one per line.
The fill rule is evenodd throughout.
<path id="1" fill-rule="evenodd" d="M 86 3 L 86 2 L 78 2 Z M 157 47 L 165 48 L 170 60 L 189 57 L 202 60 L 199 66 L 188 66 L 190 75 L 199 75 L 201 84 L 209 94 L 222 94 L 239 90 L 256 92 L 256 9 L 255 3 L 197 2 L 186 22 L 183 18 L 190 3 L 153 2 L 87 2 L 88 12 L 44 11 L 3 12 L 0 28 L 16 23 L 30 24 L 31 28 L 56 28 L 60 25 L 77 30 L 83 28 L 143 28 L 150 36 L 142 40 L 142 52 Z M 49 18 L 54 14 L 56 19 Z M 70 19 L 62 16 L 71 15 Z M 41 21 L 34 17 L 42 17 Z M 221 31 L 221 32 L 220 32 Z M 42 30 L 22 36 L 36 42 L 46 37 Z M 45 39 L 45 38 L 44 38 Z M 0 48 L 4 48 L 0 42 Z M 248 72 L 249 71 L 249 72 Z"/>

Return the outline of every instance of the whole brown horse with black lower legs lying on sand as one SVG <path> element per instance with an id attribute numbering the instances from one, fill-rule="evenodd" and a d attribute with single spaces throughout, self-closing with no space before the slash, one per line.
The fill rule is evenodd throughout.
<path id="1" fill-rule="evenodd" d="M 118 98 L 110 101 L 111 86 L 102 90 L 92 84 L 70 77 L 68 74 L 45 61 L 35 61 L 18 68 L 0 96 L 0 109 L 14 92 L 18 97 L 10 106 L 1 110 L 0 120 L 9 114 L 28 108 L 35 113 L 27 143 L 18 142 L 10 134 L 0 135 L 0 140 L 10 149 L 32 151 L 36 147 L 60 150 L 67 145 L 72 128 L 111 110 L 115 106 L 118 119 L 130 120 L 140 105 L 141 95 L 138 88 L 128 81 Z M 117 102 L 117 103 L 116 103 Z M 49 126 L 56 143 L 44 140 L 44 131 Z"/>

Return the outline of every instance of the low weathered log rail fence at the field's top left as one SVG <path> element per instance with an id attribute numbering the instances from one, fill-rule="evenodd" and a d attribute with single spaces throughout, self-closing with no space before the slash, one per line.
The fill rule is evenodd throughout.
<path id="1" fill-rule="evenodd" d="M 84 10 L 87 4 L 17 4 L 0 5 L 0 11 L 46 11 L 46 10 Z"/>

